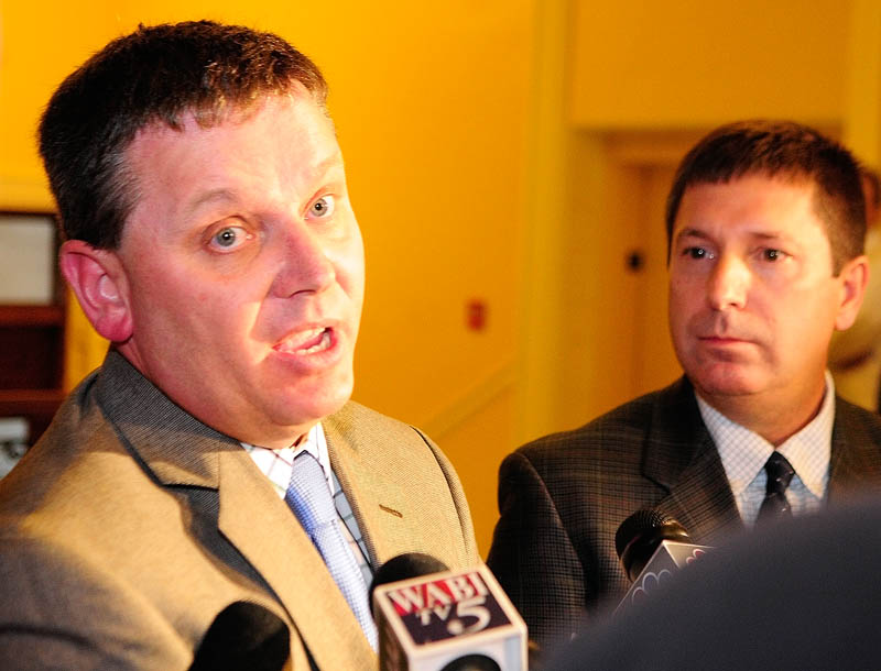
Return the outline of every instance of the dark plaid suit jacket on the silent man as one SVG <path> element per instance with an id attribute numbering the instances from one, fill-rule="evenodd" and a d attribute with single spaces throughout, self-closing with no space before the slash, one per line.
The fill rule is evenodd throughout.
<path id="1" fill-rule="evenodd" d="M 881 483 L 881 418 L 836 400 L 828 498 Z M 687 380 L 590 424 L 539 439 L 502 463 L 487 563 L 546 645 L 629 587 L 614 551 L 619 525 L 664 510 L 694 542 L 742 529 L 719 453 Z"/>

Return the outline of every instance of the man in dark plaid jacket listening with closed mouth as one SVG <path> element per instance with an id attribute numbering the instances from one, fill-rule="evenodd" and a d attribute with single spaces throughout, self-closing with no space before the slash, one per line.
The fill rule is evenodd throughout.
<path id="1" fill-rule="evenodd" d="M 795 123 L 722 127 L 683 160 L 666 226 L 685 376 L 501 468 L 488 563 L 542 642 L 623 596 L 614 535 L 640 508 L 716 544 L 881 483 L 881 419 L 826 371 L 868 279 L 850 153 Z"/>

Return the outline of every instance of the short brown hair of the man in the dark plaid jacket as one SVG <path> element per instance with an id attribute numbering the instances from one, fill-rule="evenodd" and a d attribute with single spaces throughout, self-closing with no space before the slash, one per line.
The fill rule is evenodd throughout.
<path id="1" fill-rule="evenodd" d="M 860 166 L 839 143 L 792 121 L 740 121 L 716 129 L 683 158 L 667 197 L 667 256 L 683 194 L 695 184 L 746 175 L 805 179 L 815 185 L 814 207 L 826 224 L 833 272 L 863 252 L 866 207 Z"/>

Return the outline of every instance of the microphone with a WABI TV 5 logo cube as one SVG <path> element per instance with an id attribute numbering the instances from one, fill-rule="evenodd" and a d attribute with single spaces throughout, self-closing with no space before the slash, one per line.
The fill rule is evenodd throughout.
<path id="1" fill-rule="evenodd" d="M 390 559 L 370 585 L 381 671 L 525 671 L 526 625 L 490 570 Z"/>

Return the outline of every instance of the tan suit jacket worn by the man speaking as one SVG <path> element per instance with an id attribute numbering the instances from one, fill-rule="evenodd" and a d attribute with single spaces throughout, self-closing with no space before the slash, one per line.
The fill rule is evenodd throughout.
<path id="1" fill-rule="evenodd" d="M 374 565 L 479 561 L 459 482 L 422 433 L 357 404 L 323 425 Z M 377 664 L 248 453 L 111 352 L 0 481 L 0 668 L 186 669 L 237 601 L 287 625 L 294 669 Z"/>

